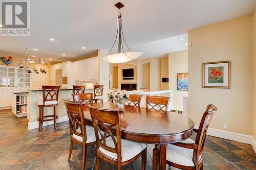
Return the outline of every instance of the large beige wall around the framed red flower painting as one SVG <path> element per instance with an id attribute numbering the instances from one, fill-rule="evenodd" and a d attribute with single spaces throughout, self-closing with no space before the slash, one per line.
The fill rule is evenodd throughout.
<path id="1" fill-rule="evenodd" d="M 211 103 L 218 107 L 211 128 L 252 135 L 252 15 L 189 30 L 188 41 L 188 116 L 199 125 Z M 225 60 L 231 61 L 231 88 L 202 88 L 202 63 Z"/>

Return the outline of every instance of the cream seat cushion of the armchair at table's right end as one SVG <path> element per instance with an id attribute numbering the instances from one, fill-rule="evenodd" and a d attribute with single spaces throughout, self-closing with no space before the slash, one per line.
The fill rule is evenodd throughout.
<path id="1" fill-rule="evenodd" d="M 192 139 L 183 140 L 182 143 L 195 143 Z M 178 147 L 177 145 L 168 144 L 166 151 L 166 160 L 184 166 L 195 166 L 193 162 L 194 149 Z M 201 162 L 202 155 L 199 156 Z"/>

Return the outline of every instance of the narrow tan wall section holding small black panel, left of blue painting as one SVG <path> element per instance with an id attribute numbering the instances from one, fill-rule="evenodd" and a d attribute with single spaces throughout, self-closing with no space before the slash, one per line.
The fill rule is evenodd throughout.
<path id="1" fill-rule="evenodd" d="M 160 89 L 161 90 L 168 90 L 169 86 L 168 86 L 168 82 L 163 83 L 162 82 L 162 78 L 168 78 L 169 72 L 168 72 L 168 56 L 164 57 L 164 58 L 160 58 L 160 62 L 161 62 L 161 76 L 160 76 Z"/>

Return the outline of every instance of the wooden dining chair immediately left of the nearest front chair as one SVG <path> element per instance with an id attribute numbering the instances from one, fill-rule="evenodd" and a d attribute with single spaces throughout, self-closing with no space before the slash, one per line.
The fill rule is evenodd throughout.
<path id="1" fill-rule="evenodd" d="M 65 103 L 70 126 L 70 150 L 69 161 L 72 155 L 74 143 L 82 146 L 82 170 L 86 167 L 87 147 L 96 143 L 93 127 L 86 125 L 82 103 L 67 102 Z"/>

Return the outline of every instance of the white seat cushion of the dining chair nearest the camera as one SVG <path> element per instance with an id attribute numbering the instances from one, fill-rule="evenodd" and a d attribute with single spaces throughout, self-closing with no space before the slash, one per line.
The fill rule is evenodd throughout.
<path id="1" fill-rule="evenodd" d="M 106 145 L 112 148 L 115 147 L 111 137 L 106 138 Z M 122 162 L 125 162 L 127 160 L 134 158 L 136 155 L 138 155 L 140 152 L 142 152 L 146 148 L 146 144 L 136 143 L 136 142 L 132 142 L 124 139 L 121 139 L 121 145 L 122 145 L 122 148 L 121 148 Z M 117 160 L 117 154 L 106 151 L 101 147 L 99 147 L 99 150 L 106 156 Z"/>

